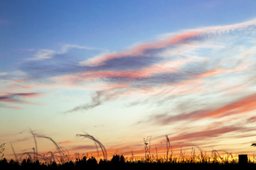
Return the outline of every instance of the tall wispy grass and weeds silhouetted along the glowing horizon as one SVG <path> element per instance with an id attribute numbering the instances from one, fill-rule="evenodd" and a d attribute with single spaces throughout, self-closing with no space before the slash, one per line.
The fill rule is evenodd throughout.
<path id="1" fill-rule="evenodd" d="M 171 142 L 166 135 L 166 155 L 164 157 L 159 157 L 156 149 L 156 156 L 151 154 L 151 137 L 144 138 L 144 152 L 145 156 L 142 158 L 135 158 L 132 152 L 132 158 L 125 158 L 123 155 L 114 154 L 111 159 L 107 159 L 107 150 L 102 143 L 95 139 L 92 135 L 78 134 L 76 136 L 83 137 L 95 142 L 95 147 L 97 149 L 97 155 L 99 157 L 100 152 L 98 147 L 102 150 L 102 159 L 97 160 L 95 157 L 85 157 L 84 155 L 75 154 L 74 158 L 70 157 L 68 150 L 60 147 L 57 142 L 55 142 L 51 137 L 44 135 L 38 135 L 32 130 L 31 135 L 33 135 L 33 140 L 35 142 L 35 147 L 33 147 L 33 152 L 23 152 L 16 154 L 14 147 L 11 148 L 14 152 L 14 157 L 16 160 L 3 159 L 0 157 L 0 169 L 89 169 L 89 168 L 99 168 L 106 169 L 117 166 L 122 169 L 139 169 L 139 168 L 157 168 L 157 169 L 255 169 L 255 161 L 252 162 L 251 159 L 247 163 L 241 164 L 238 159 L 235 159 L 230 152 L 224 150 L 213 150 L 211 155 L 207 155 L 206 151 L 203 151 L 201 147 L 193 145 L 190 155 L 185 155 L 182 147 L 180 149 L 179 157 L 175 157 L 173 154 Z M 37 138 L 43 138 L 50 140 L 56 148 L 55 152 L 48 152 L 47 154 L 39 154 L 37 146 Z M 2 145 L 4 146 L 4 145 Z M 2 147 L 4 148 L 4 147 Z M 4 149 L 2 149 L 3 151 Z M 199 154 L 196 154 L 196 151 Z M 223 156 L 224 153 L 225 157 Z M 4 154 L 1 152 L 1 154 Z"/>

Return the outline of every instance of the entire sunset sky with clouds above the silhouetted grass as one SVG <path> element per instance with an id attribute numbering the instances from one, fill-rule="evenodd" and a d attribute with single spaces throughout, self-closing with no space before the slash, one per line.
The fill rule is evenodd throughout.
<path id="1" fill-rule="evenodd" d="M 1 1 L 5 155 L 254 154 L 256 1 Z M 198 152 L 198 150 L 196 150 Z"/>

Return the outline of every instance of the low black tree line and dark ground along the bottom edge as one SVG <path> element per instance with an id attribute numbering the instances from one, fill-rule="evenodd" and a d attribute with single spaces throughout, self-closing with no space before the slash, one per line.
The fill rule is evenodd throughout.
<path id="1" fill-rule="evenodd" d="M 120 169 L 237 169 L 239 166 L 243 169 L 255 169 L 256 164 L 235 164 L 235 163 L 174 163 L 174 162 L 143 162 L 138 160 L 136 162 L 126 161 L 123 155 L 115 154 L 110 161 L 100 159 L 97 162 L 95 157 L 83 157 L 82 159 L 75 159 L 75 161 L 64 162 L 57 164 L 56 162 L 32 162 L 31 159 L 23 159 L 22 162 L 16 162 L 13 159 L 7 161 L 0 160 L 0 169 L 9 170 L 82 170 L 82 169 L 107 169 L 117 167 Z"/>

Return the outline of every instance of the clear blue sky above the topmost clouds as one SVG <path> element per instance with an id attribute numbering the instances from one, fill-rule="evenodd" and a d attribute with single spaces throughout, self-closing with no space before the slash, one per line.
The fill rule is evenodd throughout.
<path id="1" fill-rule="evenodd" d="M 1 58 L 13 64 L 28 55 L 17 56 L 19 49 L 58 50 L 63 44 L 120 50 L 162 33 L 242 22 L 255 16 L 254 6 L 255 1 L 1 1 Z"/>

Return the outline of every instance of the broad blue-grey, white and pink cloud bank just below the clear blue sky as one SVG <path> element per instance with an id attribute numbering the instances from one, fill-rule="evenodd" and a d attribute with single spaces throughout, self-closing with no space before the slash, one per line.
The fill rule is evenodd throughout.
<path id="1" fill-rule="evenodd" d="M 166 104 L 174 100 L 176 105 L 181 105 L 182 101 L 178 101 L 178 98 L 184 95 L 197 95 L 195 98 L 203 96 L 202 100 L 208 96 L 218 98 L 223 93 L 242 96 L 242 91 L 254 93 L 255 33 L 256 19 L 253 19 L 228 26 L 166 33 L 154 40 L 139 42 L 126 50 L 112 53 L 66 44 L 59 51 L 38 50 L 34 57 L 36 60 L 22 63 L 20 69 L 26 73 L 26 77 L 23 77 L 26 81 L 37 80 L 45 84 L 65 82 L 70 86 L 86 86 L 95 91 L 103 91 L 95 89 L 95 84 L 110 86 L 104 89 L 107 92 L 102 93 L 98 101 L 92 98 L 92 103 L 77 106 L 69 112 L 100 106 L 105 102 L 102 98 L 107 98 L 109 93 L 114 94 L 112 98 L 117 98 L 117 91 L 132 94 L 129 91 L 145 89 L 144 91 L 149 92 L 157 89 L 165 91 L 165 94 L 156 94 L 159 99 L 154 100 L 143 98 L 141 103 Z M 70 49 L 98 50 L 99 54 L 74 59 L 75 56 L 68 56 Z M 125 86 L 120 86 L 124 84 Z M 119 88 L 110 91 L 111 86 Z M 134 101 L 132 105 L 135 106 L 136 103 Z M 212 104 L 220 106 L 219 103 Z M 204 109 L 193 111 L 198 115 L 209 112 Z"/>

